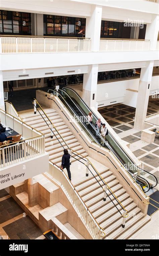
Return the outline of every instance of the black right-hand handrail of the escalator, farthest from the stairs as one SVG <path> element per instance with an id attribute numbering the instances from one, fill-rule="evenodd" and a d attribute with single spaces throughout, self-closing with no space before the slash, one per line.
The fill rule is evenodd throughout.
<path id="1" fill-rule="evenodd" d="M 66 87 L 63 87 L 63 88 L 66 88 Z M 62 88 L 62 89 L 63 89 Z M 96 119 L 98 120 L 98 117 L 96 116 L 96 114 L 93 112 L 93 110 L 92 109 L 90 109 L 87 105 L 86 105 L 86 103 L 83 101 L 83 99 L 73 90 L 73 89 L 71 89 L 71 88 L 66 88 L 66 89 L 69 89 L 69 90 L 71 90 L 71 91 L 73 91 L 76 95 L 77 95 L 77 97 L 85 104 L 85 106 L 88 108 L 88 110 L 89 111 L 91 111 L 92 113 L 93 113 L 93 115 L 96 117 Z M 64 91 L 65 92 L 65 91 Z M 109 135 L 111 136 L 111 138 L 117 143 L 117 145 L 120 147 L 120 145 L 119 145 L 119 143 L 115 140 L 115 138 L 109 133 Z M 123 149 L 120 147 L 120 149 L 123 151 Z M 131 161 L 131 163 L 133 163 L 138 169 L 140 169 L 141 171 L 143 171 L 143 169 L 141 169 L 140 167 L 138 167 L 134 162 L 133 162 L 133 160 L 123 151 L 123 153 L 125 154 L 125 156 L 126 157 L 128 157 L 129 158 L 129 160 Z M 144 170 L 146 173 L 148 173 L 149 175 L 152 175 L 153 177 L 154 177 L 154 179 L 156 180 L 156 185 L 155 186 L 157 186 L 157 184 L 158 184 L 158 181 L 157 181 L 157 178 L 155 177 L 155 175 L 154 174 L 152 174 L 152 173 L 150 173 L 150 172 L 148 172 L 148 171 L 146 171 L 146 170 Z M 152 187 L 155 187 L 155 186 L 152 186 Z"/>

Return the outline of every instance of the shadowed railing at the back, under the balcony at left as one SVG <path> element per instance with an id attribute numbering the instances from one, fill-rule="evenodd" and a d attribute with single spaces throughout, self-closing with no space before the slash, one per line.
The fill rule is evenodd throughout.
<path id="1" fill-rule="evenodd" d="M 20 79 L 20 80 L 14 80 L 13 81 L 13 88 L 24 88 L 24 87 L 32 87 L 35 86 L 34 84 L 34 78 L 30 79 Z M 8 81 L 3 82 L 3 89 L 8 90 Z"/>

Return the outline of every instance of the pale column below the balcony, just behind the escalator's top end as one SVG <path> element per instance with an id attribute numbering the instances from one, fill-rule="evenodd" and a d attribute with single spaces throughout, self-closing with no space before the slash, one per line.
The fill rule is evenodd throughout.
<path id="1" fill-rule="evenodd" d="M 89 107 L 96 106 L 98 64 L 90 65 L 88 73 L 84 74 L 83 100 Z"/>

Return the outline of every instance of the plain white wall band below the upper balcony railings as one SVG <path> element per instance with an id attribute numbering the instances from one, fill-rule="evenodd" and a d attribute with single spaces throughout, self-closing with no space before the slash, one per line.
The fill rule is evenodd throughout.
<path id="1" fill-rule="evenodd" d="M 0 70 L 68 67 L 158 60 L 157 51 L 1 54 Z"/>

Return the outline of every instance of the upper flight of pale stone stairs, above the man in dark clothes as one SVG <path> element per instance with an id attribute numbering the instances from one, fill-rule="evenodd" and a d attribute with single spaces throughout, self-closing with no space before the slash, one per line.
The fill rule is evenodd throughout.
<path id="1" fill-rule="evenodd" d="M 73 133 L 65 125 L 65 123 L 60 118 L 60 116 L 57 114 L 56 110 L 53 110 L 51 108 L 43 108 L 43 109 L 44 109 L 45 113 L 47 114 L 47 116 L 49 117 L 49 119 L 51 120 L 51 122 L 55 125 L 57 130 L 60 132 L 60 134 L 62 135 L 62 137 L 68 144 L 68 146 L 72 150 L 81 154 L 83 157 L 87 157 L 88 154 L 83 149 L 83 147 L 80 145 L 80 143 L 75 138 Z M 63 156 L 63 147 L 62 146 L 64 146 L 64 148 L 67 148 L 67 146 L 65 146 L 65 143 L 63 142 L 63 140 L 60 138 L 60 136 L 58 135 L 58 133 L 56 131 L 54 133 L 58 139 L 54 135 L 53 135 L 53 138 L 50 137 L 50 129 L 49 129 L 48 125 L 46 124 L 46 122 L 47 122 L 50 126 L 50 122 L 45 117 L 43 112 L 41 110 L 39 110 L 39 111 L 42 114 L 42 117 L 44 119 L 41 117 L 41 115 L 37 111 L 36 115 L 32 114 L 29 117 L 25 117 L 25 123 L 27 123 L 28 125 L 32 126 L 33 128 L 35 128 L 38 131 L 45 134 L 45 151 L 49 154 L 49 160 L 51 162 L 57 164 L 58 166 L 61 166 L 61 159 Z M 44 120 L 46 120 L 46 122 Z M 59 141 L 61 142 L 62 146 L 60 145 Z M 74 162 L 77 159 L 80 159 L 80 157 L 76 157 L 76 159 L 72 157 L 71 162 Z"/>

